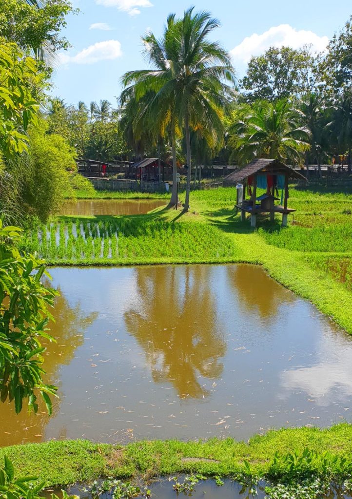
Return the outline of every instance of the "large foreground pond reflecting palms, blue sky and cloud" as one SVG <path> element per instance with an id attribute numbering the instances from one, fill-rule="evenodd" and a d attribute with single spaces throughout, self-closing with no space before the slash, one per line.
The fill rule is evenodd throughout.
<path id="1" fill-rule="evenodd" d="M 352 337 L 261 267 L 52 268 L 53 416 L 0 409 L 1 445 L 233 436 L 352 415 Z"/>

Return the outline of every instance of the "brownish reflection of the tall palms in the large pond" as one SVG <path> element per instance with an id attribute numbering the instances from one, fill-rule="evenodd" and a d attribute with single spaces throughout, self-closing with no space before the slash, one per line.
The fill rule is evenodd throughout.
<path id="1" fill-rule="evenodd" d="M 143 348 L 153 381 L 181 398 L 207 398 L 206 379 L 222 375 L 224 334 L 211 292 L 211 267 L 136 268 L 138 304 L 125 324 Z M 203 379 L 202 379 L 203 378 Z"/>

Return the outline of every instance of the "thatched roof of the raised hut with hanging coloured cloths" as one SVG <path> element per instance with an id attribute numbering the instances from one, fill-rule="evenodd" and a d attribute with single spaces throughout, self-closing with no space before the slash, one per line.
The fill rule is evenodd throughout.
<path id="1" fill-rule="evenodd" d="M 230 175 L 225 177 L 224 185 L 237 185 L 239 182 L 243 182 L 251 175 L 255 175 L 256 173 L 260 172 L 268 173 L 271 175 L 288 173 L 289 178 L 307 180 L 306 177 L 304 177 L 301 173 L 296 172 L 289 166 L 285 165 L 285 163 L 281 163 L 281 161 L 277 159 L 255 159 L 241 170 L 230 173 Z"/>

